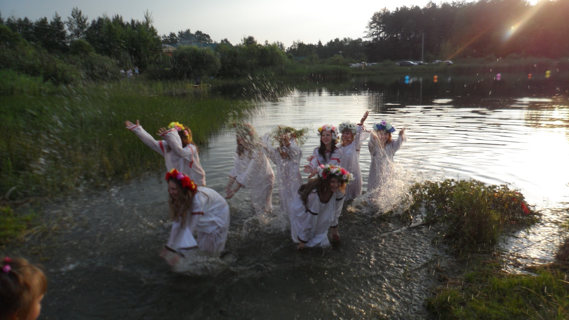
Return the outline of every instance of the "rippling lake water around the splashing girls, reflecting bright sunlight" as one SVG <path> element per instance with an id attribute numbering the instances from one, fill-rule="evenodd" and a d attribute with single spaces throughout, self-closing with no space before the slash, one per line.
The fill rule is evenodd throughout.
<path id="1" fill-rule="evenodd" d="M 362 78 L 298 85 L 288 95 L 257 100 L 249 121 L 259 134 L 279 124 L 306 126 L 304 155 L 318 146 L 316 128 L 342 121 L 388 120 L 407 128 L 395 154 L 389 208 L 410 183 L 478 179 L 521 190 L 543 219 L 505 239 L 503 249 L 537 263 L 553 259 L 569 214 L 569 85 L 551 76 L 492 75 Z M 201 149 L 209 187 L 222 193 L 232 168 L 234 134 L 219 133 Z M 361 151 L 364 190 L 370 155 Z M 351 207 L 340 219 L 342 244 L 296 251 L 278 210 L 259 220 L 251 195 L 229 200 L 231 225 L 224 266 L 206 276 L 173 273 L 159 259 L 167 239 L 163 173 L 48 206 L 61 231 L 38 245 L 50 288 L 43 319 L 421 319 L 436 285 L 431 266 L 444 252 L 434 230 L 400 228 L 397 217 Z M 253 195 L 254 200 L 254 195 Z M 360 207 L 361 209 L 361 207 Z M 565 233 L 566 234 L 566 233 Z M 532 259 L 542 260 L 532 260 Z M 508 267 L 509 268 L 509 267 Z"/>

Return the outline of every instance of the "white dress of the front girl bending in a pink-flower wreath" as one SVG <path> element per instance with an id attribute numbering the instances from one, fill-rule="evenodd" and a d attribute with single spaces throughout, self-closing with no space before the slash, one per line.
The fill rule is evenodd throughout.
<path id="1" fill-rule="evenodd" d="M 334 192 L 327 203 L 322 203 L 318 192 L 314 189 L 308 195 L 306 206 L 297 192 L 290 215 L 292 241 L 305 243 L 307 247 L 330 245 L 328 228 L 338 225 L 343 204 L 344 194 L 341 191 Z"/>

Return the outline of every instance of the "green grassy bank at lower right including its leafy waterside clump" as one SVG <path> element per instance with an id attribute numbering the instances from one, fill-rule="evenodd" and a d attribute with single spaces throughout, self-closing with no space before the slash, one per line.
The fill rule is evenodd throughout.
<path id="1" fill-rule="evenodd" d="M 426 210 L 427 223 L 440 228 L 436 241 L 455 256 L 434 268 L 441 285 L 426 301 L 432 315 L 440 319 L 569 318 L 567 262 L 526 267 L 525 273 L 514 274 L 505 270 L 508 253 L 496 251 L 504 235 L 539 219 L 522 194 L 506 186 L 452 179 L 415 184 L 409 194 L 411 210 Z"/>

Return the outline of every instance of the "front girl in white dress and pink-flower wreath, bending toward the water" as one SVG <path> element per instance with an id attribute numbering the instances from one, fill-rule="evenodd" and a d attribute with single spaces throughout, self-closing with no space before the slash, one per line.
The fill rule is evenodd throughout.
<path id="1" fill-rule="evenodd" d="M 345 184 L 353 179 L 351 173 L 339 166 L 320 165 L 318 177 L 300 186 L 292 203 L 290 232 L 298 249 L 329 245 L 340 241 L 338 218 L 344 204 Z"/>

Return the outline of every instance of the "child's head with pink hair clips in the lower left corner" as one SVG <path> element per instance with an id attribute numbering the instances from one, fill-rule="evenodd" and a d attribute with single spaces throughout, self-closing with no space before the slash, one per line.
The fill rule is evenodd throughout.
<path id="1" fill-rule="evenodd" d="M 47 279 L 26 259 L 0 262 L 0 320 L 35 320 L 39 316 Z"/>

